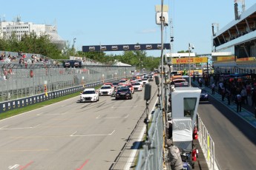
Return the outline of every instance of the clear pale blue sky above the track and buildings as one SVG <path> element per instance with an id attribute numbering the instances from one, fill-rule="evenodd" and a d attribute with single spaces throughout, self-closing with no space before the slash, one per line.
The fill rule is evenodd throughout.
<path id="1" fill-rule="evenodd" d="M 244 0 L 249 9 L 255 0 Z M 20 16 L 24 22 L 56 25 L 60 37 L 76 50 L 89 45 L 161 44 L 161 27 L 156 24 L 155 6 L 161 0 L 0 0 L 1 21 Z M 163 43 L 172 50 L 188 50 L 194 45 L 197 54 L 211 53 L 211 24 L 219 30 L 234 20 L 234 0 L 164 0 L 168 5 L 168 26 Z M 242 2 L 238 2 L 242 11 Z M 172 24 L 171 24 L 172 23 Z M 171 27 L 172 25 L 172 27 Z M 216 28 L 216 27 L 215 27 Z M 160 57 L 160 50 L 147 50 L 148 56 Z M 119 55 L 122 52 L 107 52 Z"/>

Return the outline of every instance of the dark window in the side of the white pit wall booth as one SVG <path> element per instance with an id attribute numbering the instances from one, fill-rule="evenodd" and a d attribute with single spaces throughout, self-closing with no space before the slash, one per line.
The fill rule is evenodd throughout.
<path id="1" fill-rule="evenodd" d="M 184 98 L 184 117 L 193 118 L 197 98 Z"/>

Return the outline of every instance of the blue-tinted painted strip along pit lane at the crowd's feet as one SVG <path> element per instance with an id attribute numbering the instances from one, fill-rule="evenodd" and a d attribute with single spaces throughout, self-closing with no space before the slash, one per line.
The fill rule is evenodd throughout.
<path id="1" fill-rule="evenodd" d="M 193 84 L 194 86 L 199 86 L 197 81 L 192 81 L 191 84 Z M 256 128 L 256 115 L 255 115 L 256 114 L 256 112 L 255 112 L 256 109 L 255 109 L 254 106 L 250 106 L 249 104 L 242 104 L 241 112 L 237 112 L 237 104 L 231 101 L 230 105 L 229 105 L 228 100 L 226 98 L 224 99 L 224 101 L 222 101 L 222 97 L 219 93 L 217 93 L 217 90 L 215 90 L 214 95 L 211 95 L 211 88 L 209 88 L 209 86 L 205 86 L 203 84 L 203 86 L 200 87 L 200 88 L 206 89 L 206 91 L 209 93 L 209 95 L 212 98 L 215 98 L 217 101 L 220 101 L 220 103 L 223 103 L 223 105 L 225 105 L 227 108 L 232 110 L 232 112 L 234 112 L 240 118 L 242 118 L 247 123 L 249 123 L 250 125 L 252 125 Z M 215 89 L 217 89 L 217 88 L 215 88 Z M 248 98 L 248 102 L 252 103 L 250 98 Z"/>

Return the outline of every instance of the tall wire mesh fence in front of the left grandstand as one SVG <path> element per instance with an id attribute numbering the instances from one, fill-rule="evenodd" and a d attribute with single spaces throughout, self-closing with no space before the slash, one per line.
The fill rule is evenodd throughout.
<path id="1" fill-rule="evenodd" d="M 46 95 L 47 98 L 47 94 L 63 89 L 85 88 L 91 84 L 128 78 L 134 69 L 96 65 L 64 68 L 55 64 L 0 64 L 0 103 L 37 95 Z"/>

